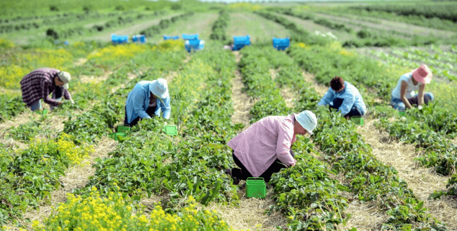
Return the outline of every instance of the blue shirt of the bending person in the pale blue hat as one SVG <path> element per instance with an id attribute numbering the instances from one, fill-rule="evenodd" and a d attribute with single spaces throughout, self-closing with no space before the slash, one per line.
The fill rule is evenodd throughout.
<path id="1" fill-rule="evenodd" d="M 135 84 L 133 90 L 129 92 L 127 102 L 125 103 L 127 120 L 129 123 L 132 123 L 137 117 L 151 119 L 151 116 L 146 113 L 151 96 L 149 84 L 152 84 L 152 81 L 139 81 Z M 159 116 L 160 111 L 162 111 L 162 117 L 164 119 L 169 119 L 171 113 L 170 96 L 163 99 L 157 98 L 156 103 L 157 107 L 155 108 L 154 114 Z"/>

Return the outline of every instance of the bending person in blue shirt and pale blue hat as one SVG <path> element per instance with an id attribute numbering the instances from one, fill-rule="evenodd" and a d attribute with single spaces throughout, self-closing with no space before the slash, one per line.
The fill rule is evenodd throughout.
<path id="1" fill-rule="evenodd" d="M 134 126 L 140 119 L 159 116 L 160 111 L 164 119 L 170 118 L 170 96 L 166 80 L 158 78 L 139 81 L 127 97 L 124 124 Z"/>

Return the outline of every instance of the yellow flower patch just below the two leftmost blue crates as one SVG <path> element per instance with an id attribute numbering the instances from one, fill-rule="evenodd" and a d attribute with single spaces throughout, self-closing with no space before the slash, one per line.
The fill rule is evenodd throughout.
<path id="1" fill-rule="evenodd" d="M 95 50 L 87 56 L 87 60 L 100 62 L 125 60 L 135 55 L 145 52 L 144 44 L 130 43 L 125 45 L 110 45 L 99 50 Z"/>

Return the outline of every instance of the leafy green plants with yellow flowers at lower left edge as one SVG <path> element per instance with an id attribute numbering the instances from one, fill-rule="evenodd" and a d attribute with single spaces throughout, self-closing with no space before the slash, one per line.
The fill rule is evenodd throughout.
<path id="1" fill-rule="evenodd" d="M 92 146 L 77 147 L 73 139 L 60 133 L 56 139 L 32 140 L 24 150 L 2 150 L 0 224 L 22 219 L 26 209 L 49 202 L 51 193 L 62 186 L 65 171 L 93 152 Z"/>

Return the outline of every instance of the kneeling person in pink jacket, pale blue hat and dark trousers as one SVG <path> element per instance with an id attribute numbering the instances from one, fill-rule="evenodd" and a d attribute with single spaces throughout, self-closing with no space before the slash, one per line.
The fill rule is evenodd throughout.
<path id="1" fill-rule="evenodd" d="M 239 168 L 227 169 L 226 173 L 234 184 L 248 177 L 263 177 L 268 183 L 273 173 L 295 165 L 291 146 L 296 135 L 311 135 L 316 125 L 316 116 L 307 110 L 288 116 L 267 116 L 255 122 L 227 143 Z"/>

